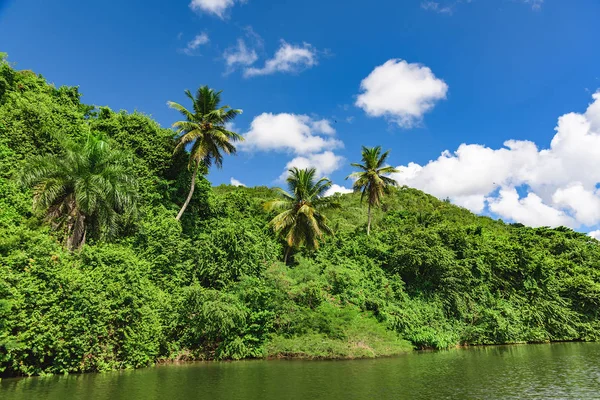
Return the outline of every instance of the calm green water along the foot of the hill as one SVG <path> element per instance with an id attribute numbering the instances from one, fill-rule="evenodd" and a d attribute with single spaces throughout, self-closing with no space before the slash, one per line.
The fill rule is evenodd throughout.
<path id="1" fill-rule="evenodd" d="M 357 361 L 243 361 L 5 379 L 0 399 L 600 399 L 600 344 L 412 353 Z"/>

